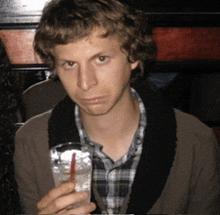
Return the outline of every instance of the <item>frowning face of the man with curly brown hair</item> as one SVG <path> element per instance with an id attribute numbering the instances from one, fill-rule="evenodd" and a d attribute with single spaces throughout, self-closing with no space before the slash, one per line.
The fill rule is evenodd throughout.
<path id="1" fill-rule="evenodd" d="M 54 49 L 57 74 L 82 114 L 100 116 L 120 111 L 130 98 L 129 63 L 116 37 L 101 37 L 101 29 Z"/>

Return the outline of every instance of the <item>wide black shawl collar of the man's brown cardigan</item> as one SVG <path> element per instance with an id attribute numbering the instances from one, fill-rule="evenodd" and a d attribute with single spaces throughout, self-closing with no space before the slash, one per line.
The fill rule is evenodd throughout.
<path id="1" fill-rule="evenodd" d="M 170 173 L 176 148 L 176 120 L 173 108 L 146 84 L 134 86 L 147 112 L 143 151 L 134 183 L 121 214 L 146 214 L 160 197 Z M 74 102 L 69 97 L 52 111 L 48 134 L 50 147 L 79 141 L 74 119 Z M 96 201 L 92 195 L 92 199 Z M 96 210 L 95 213 L 101 213 Z"/>

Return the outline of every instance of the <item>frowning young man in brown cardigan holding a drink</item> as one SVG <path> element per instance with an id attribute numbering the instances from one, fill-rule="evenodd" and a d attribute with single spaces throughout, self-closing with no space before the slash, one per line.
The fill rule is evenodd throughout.
<path id="1" fill-rule="evenodd" d="M 155 54 L 147 19 L 119 0 L 53 0 L 35 50 L 68 97 L 29 120 L 14 156 L 26 213 L 218 213 L 219 149 L 208 127 L 131 77 Z M 93 148 L 91 202 L 74 183 L 54 185 L 49 149 Z"/>

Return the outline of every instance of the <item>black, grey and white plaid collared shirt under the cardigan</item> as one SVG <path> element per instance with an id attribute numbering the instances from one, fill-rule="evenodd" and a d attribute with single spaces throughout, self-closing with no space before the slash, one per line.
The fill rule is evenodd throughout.
<path id="1" fill-rule="evenodd" d="M 75 108 L 75 120 L 82 144 L 90 144 L 93 152 L 93 183 L 97 186 L 99 195 L 107 208 L 107 213 L 118 214 L 134 181 L 136 168 L 142 152 L 144 129 L 146 127 L 146 112 L 138 93 L 131 88 L 134 99 L 138 100 L 140 108 L 140 122 L 128 152 L 114 162 L 104 152 L 102 145 L 92 142 L 87 135 L 79 114 L 79 107 Z"/>

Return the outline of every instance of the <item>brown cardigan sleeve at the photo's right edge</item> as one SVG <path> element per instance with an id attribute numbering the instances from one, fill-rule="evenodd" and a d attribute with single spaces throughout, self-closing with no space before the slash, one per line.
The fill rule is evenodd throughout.
<path id="1" fill-rule="evenodd" d="M 195 133 L 194 169 L 191 178 L 189 214 L 220 212 L 220 148 L 211 129 Z"/>

